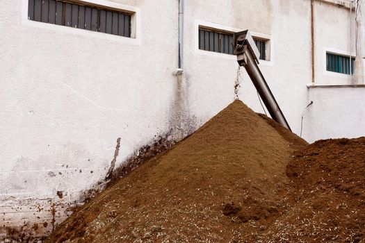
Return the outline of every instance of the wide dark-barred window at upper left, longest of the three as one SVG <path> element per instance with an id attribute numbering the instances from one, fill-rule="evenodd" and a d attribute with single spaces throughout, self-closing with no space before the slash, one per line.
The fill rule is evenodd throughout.
<path id="1" fill-rule="evenodd" d="M 131 14 L 63 0 L 29 0 L 28 19 L 131 37 Z"/>

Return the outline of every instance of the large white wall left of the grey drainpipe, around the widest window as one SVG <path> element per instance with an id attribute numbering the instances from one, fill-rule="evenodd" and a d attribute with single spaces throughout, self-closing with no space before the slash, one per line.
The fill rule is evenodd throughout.
<path id="1" fill-rule="evenodd" d="M 50 231 L 54 205 L 62 220 L 105 178 L 118 137 L 120 165 L 174 126 L 177 1 L 118 2 L 136 12 L 136 40 L 31 22 L 27 1 L 0 1 L 0 233 Z"/>

